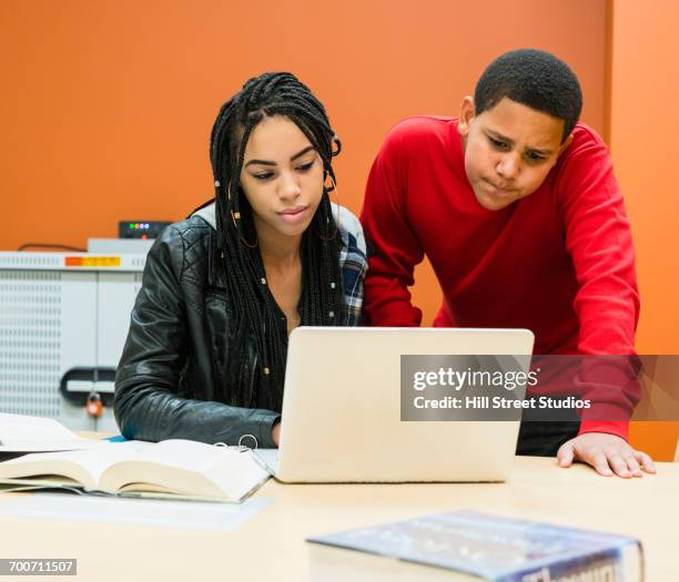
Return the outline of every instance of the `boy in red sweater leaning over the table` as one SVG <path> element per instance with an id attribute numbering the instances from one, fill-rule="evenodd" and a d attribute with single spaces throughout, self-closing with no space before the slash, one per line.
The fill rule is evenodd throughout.
<path id="1" fill-rule="evenodd" d="M 420 324 L 407 287 L 426 254 L 444 293 L 434 326 L 528 328 L 540 355 L 634 355 L 629 222 L 606 145 L 577 123 L 581 105 L 568 65 L 517 50 L 486 69 L 459 119 L 412 118 L 391 131 L 362 213 L 372 325 Z M 626 418 L 637 397 L 616 398 L 607 405 L 619 415 L 607 418 Z M 604 476 L 655 472 L 627 443 L 627 422 L 607 418 L 525 422 L 517 452 Z"/>

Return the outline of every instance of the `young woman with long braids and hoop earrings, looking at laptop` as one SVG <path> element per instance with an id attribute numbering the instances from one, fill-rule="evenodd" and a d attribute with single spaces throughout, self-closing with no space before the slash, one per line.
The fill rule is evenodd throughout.
<path id="1" fill-rule="evenodd" d="M 363 232 L 328 198 L 340 149 L 290 73 L 251 79 L 222 106 L 214 201 L 146 258 L 115 380 L 124 437 L 277 446 L 288 334 L 358 323 Z"/>

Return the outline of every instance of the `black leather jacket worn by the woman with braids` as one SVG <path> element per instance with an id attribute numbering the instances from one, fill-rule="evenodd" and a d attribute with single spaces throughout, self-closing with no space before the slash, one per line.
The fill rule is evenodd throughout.
<path id="1" fill-rule="evenodd" d="M 351 216 L 359 231 L 352 241 L 362 242 Z M 165 228 L 149 252 L 115 377 L 115 418 L 128 439 L 234 445 L 252 435 L 274 447 L 281 400 L 254 388 L 254 337 L 243 343 L 230 325 L 216 242 L 213 226 L 194 215 Z"/>

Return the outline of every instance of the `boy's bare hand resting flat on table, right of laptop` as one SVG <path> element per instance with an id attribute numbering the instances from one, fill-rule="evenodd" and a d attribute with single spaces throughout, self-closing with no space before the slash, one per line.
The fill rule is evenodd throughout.
<path id="1" fill-rule="evenodd" d="M 605 432 L 586 432 L 564 442 L 557 452 L 559 467 L 570 467 L 572 461 L 591 464 L 599 474 L 611 477 L 642 477 L 641 469 L 655 473 L 651 458 L 632 449 L 625 439 Z"/>

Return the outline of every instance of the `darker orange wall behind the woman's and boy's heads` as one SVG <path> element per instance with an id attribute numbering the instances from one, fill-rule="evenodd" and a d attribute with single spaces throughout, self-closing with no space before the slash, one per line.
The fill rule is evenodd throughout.
<path id="1" fill-rule="evenodd" d="M 604 0 L 2 0 L 0 248 L 83 246 L 119 219 L 184 217 L 212 196 L 220 104 L 265 70 L 295 72 L 326 104 L 345 145 L 341 200 L 356 212 L 389 126 L 456 114 L 503 51 L 563 55 L 601 129 L 604 12 Z M 430 317 L 438 292 L 420 287 Z"/>

